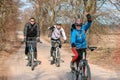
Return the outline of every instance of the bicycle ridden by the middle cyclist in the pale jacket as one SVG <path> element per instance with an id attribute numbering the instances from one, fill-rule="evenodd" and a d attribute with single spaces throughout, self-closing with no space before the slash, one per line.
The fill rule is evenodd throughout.
<path id="1" fill-rule="evenodd" d="M 53 50 L 53 63 L 56 64 L 56 67 L 60 67 L 60 61 L 61 61 L 61 58 L 60 58 L 60 51 L 59 51 L 59 45 L 60 45 L 60 41 L 53 41 L 55 43 L 55 46 L 54 46 L 54 50 Z M 52 64 L 52 61 L 51 61 L 51 64 Z"/>

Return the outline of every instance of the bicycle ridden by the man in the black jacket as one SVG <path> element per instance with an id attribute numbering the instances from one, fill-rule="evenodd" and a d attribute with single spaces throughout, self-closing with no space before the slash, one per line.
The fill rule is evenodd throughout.
<path id="1" fill-rule="evenodd" d="M 27 66 L 31 67 L 31 70 L 34 70 L 35 67 L 35 61 L 34 61 L 34 46 L 36 46 L 36 43 L 38 42 L 36 38 L 34 37 L 29 37 L 28 41 L 25 40 L 25 42 L 28 43 L 28 63 Z M 39 63 L 40 64 L 40 63 Z"/>

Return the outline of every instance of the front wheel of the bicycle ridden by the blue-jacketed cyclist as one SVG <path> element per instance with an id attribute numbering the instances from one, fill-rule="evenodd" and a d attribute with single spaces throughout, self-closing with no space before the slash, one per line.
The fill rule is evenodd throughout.
<path id="1" fill-rule="evenodd" d="M 91 71 L 88 64 L 82 66 L 81 80 L 91 80 Z"/>

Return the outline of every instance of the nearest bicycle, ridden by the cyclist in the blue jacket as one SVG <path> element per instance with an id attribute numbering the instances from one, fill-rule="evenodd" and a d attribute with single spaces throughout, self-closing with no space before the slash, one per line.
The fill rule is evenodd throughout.
<path id="1" fill-rule="evenodd" d="M 94 51 L 97 47 L 88 47 L 91 51 Z M 87 49 L 87 48 L 86 48 Z M 82 53 L 82 59 L 77 60 L 76 65 L 72 72 L 73 80 L 91 80 L 91 71 L 89 64 L 85 58 L 85 52 Z M 72 56 L 74 57 L 74 56 Z"/>

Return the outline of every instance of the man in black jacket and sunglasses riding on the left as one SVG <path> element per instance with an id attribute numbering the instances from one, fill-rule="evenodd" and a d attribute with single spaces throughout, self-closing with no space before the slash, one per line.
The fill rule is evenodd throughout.
<path id="1" fill-rule="evenodd" d="M 30 39 L 31 38 L 31 39 Z M 40 27 L 39 24 L 37 22 L 35 22 L 35 18 L 30 18 L 29 22 L 25 24 L 24 27 L 24 39 L 26 41 L 35 41 L 36 40 L 40 40 Z M 25 59 L 28 59 L 28 45 L 29 43 L 26 42 L 26 47 L 25 47 Z M 34 52 L 35 52 L 35 56 L 34 56 L 34 60 L 37 60 L 37 44 L 33 43 L 32 44 L 34 47 Z"/>

